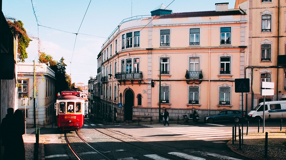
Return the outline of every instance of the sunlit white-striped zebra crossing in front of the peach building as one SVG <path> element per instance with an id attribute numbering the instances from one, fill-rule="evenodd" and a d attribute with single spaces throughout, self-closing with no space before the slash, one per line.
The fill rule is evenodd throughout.
<path id="1" fill-rule="evenodd" d="M 200 139 L 200 140 L 229 140 L 232 139 L 232 132 L 227 132 L 219 129 L 212 129 L 209 127 L 199 127 L 193 125 L 182 124 L 170 124 L 169 126 L 163 126 L 161 124 L 144 125 L 147 127 L 153 127 L 169 131 L 179 135 Z"/>

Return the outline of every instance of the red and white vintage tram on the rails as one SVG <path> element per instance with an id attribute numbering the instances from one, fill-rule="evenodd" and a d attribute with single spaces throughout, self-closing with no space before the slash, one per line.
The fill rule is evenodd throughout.
<path id="1" fill-rule="evenodd" d="M 84 98 L 80 92 L 63 91 L 55 103 L 60 130 L 78 130 L 84 125 Z"/>

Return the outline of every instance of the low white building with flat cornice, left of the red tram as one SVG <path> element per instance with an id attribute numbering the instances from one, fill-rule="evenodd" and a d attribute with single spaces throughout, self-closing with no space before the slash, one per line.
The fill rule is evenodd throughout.
<path id="1" fill-rule="evenodd" d="M 27 124 L 34 124 L 33 121 L 33 70 L 34 64 L 18 63 L 18 109 L 25 110 L 21 105 L 21 99 L 27 97 L 29 103 L 26 106 Z M 55 103 L 55 72 L 46 64 L 35 64 L 36 80 L 36 125 L 48 125 L 55 121 L 54 103 Z"/>

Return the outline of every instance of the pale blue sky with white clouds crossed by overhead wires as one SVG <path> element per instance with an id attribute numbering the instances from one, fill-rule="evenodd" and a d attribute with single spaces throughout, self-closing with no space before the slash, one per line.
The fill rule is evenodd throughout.
<path id="1" fill-rule="evenodd" d="M 39 26 L 40 51 L 53 56 L 54 60 L 65 58 L 67 74 L 72 74 L 72 82 L 88 83 L 89 77 L 97 74 L 97 55 L 102 43 L 116 26 L 126 18 L 136 15 L 150 15 L 150 11 L 161 5 L 169 5 L 173 0 L 33 0 L 35 14 L 39 25 L 77 33 L 94 35 L 78 35 L 65 33 Z M 174 13 L 213 11 L 215 3 L 229 2 L 229 9 L 233 9 L 235 0 L 175 0 L 169 8 Z M 132 3 L 132 12 L 131 12 Z M 21 20 L 28 34 L 37 37 L 37 22 L 30 0 L 3 0 L 4 15 Z M 37 40 L 30 42 L 27 48 L 28 58 L 25 62 L 36 59 Z M 73 53 L 74 48 L 74 53 Z M 72 63 L 70 61 L 72 60 Z"/>

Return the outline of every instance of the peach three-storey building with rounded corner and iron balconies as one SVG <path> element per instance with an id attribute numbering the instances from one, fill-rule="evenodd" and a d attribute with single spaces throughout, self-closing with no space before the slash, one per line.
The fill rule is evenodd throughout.
<path id="1" fill-rule="evenodd" d="M 160 62 L 160 111 L 166 108 L 171 120 L 192 110 L 204 118 L 223 109 L 241 109 L 234 80 L 244 78 L 246 24 L 241 9 L 136 17 L 121 23 L 98 54 L 97 116 L 158 120 Z"/>

